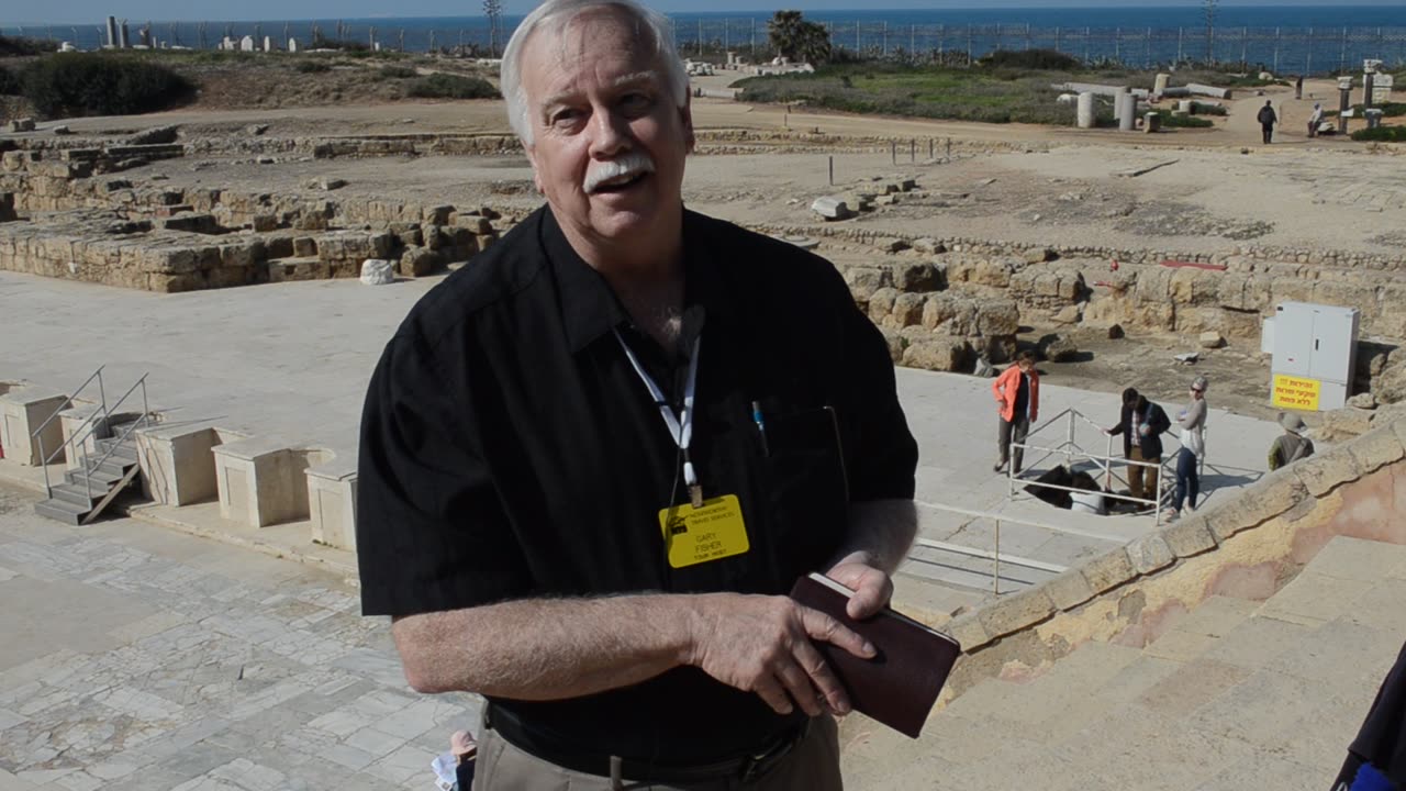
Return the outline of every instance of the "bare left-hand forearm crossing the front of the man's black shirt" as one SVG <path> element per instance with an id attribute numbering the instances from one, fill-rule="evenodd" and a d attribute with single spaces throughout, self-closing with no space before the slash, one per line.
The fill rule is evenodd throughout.
<path id="1" fill-rule="evenodd" d="M 399 618 L 391 631 L 418 691 L 574 698 L 685 663 L 689 598 L 520 600 Z"/>

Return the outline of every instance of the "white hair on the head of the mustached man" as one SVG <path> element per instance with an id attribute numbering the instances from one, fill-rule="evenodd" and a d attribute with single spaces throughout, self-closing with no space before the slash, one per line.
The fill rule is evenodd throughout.
<path id="1" fill-rule="evenodd" d="M 503 65 L 499 76 L 503 99 L 508 101 L 508 124 L 517 134 L 523 145 L 531 145 L 531 120 L 527 117 L 527 91 L 522 83 L 523 51 L 527 49 L 527 39 L 540 28 L 551 25 L 561 30 L 578 15 L 592 8 L 619 8 L 631 17 L 643 44 L 654 45 L 654 52 L 664 66 L 665 84 L 673 97 L 673 104 L 683 107 L 689 100 L 689 75 L 683 70 L 683 61 L 679 59 L 673 48 L 673 31 L 669 18 L 664 14 L 647 8 L 636 0 L 547 0 L 537 6 L 533 13 L 517 25 L 513 37 L 503 51 Z M 650 39 L 650 41 L 645 41 Z"/>

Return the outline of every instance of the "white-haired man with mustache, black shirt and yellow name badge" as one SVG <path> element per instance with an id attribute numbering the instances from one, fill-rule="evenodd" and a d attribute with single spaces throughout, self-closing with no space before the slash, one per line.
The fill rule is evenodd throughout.
<path id="1" fill-rule="evenodd" d="M 917 446 L 831 265 L 689 213 L 688 77 L 633 0 L 548 0 L 503 96 L 547 205 L 413 308 L 363 414 L 367 615 L 486 698 L 475 788 L 839 788 L 849 711 L 785 594 L 887 604 Z"/>

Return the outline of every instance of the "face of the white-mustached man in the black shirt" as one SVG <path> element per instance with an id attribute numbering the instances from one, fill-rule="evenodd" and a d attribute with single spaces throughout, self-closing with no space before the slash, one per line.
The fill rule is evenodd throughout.
<path id="1" fill-rule="evenodd" d="M 527 156 L 568 236 L 619 242 L 661 229 L 682 207 L 692 118 L 640 39 L 623 11 L 592 8 L 523 51 Z"/>

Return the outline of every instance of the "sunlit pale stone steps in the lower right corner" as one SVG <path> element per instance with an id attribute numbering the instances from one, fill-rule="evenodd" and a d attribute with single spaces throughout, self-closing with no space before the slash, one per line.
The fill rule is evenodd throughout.
<path id="1" fill-rule="evenodd" d="M 1334 538 L 1267 601 L 990 678 L 910 740 L 841 728 L 851 790 L 1323 791 L 1406 639 L 1406 546 Z M 1014 676 L 1014 673 L 1008 673 Z"/>

